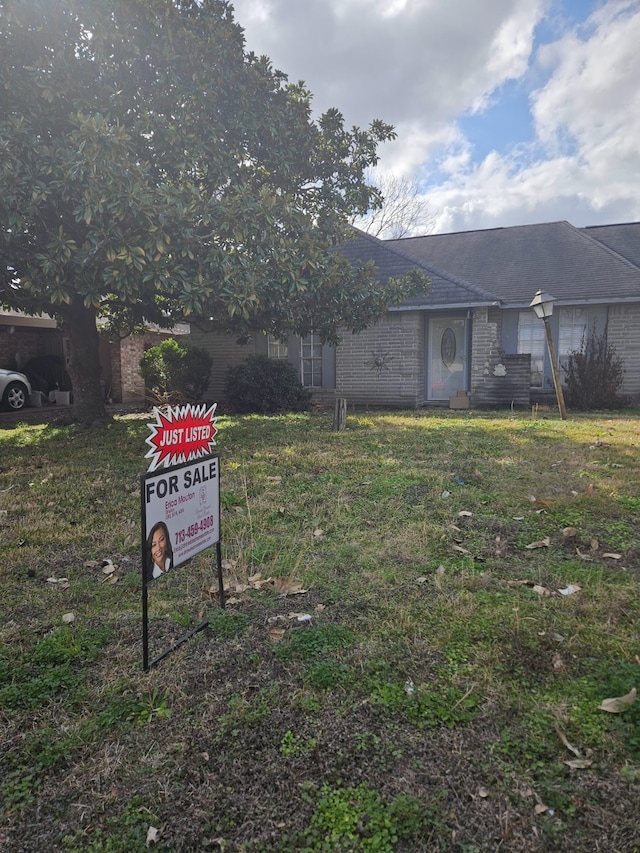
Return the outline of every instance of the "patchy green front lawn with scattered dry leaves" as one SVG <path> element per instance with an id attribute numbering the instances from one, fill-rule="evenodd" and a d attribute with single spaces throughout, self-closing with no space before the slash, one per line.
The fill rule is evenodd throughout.
<path id="1" fill-rule="evenodd" d="M 637 415 L 220 417 L 148 674 L 149 416 L 0 430 L 0 846 L 640 850 Z"/>

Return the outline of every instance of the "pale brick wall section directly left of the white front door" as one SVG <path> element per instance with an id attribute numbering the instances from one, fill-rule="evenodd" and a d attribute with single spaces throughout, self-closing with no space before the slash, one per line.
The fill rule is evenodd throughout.
<path id="1" fill-rule="evenodd" d="M 336 395 L 349 402 L 415 408 L 424 402 L 424 320 L 392 311 L 370 329 L 346 333 L 336 350 Z"/>

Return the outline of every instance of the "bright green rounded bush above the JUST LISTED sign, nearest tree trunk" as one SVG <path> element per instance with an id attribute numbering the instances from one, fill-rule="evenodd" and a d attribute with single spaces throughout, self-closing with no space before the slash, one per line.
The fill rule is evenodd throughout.
<path id="1" fill-rule="evenodd" d="M 211 356 L 199 347 L 167 338 L 140 359 L 149 399 L 160 405 L 197 403 L 209 384 Z"/>

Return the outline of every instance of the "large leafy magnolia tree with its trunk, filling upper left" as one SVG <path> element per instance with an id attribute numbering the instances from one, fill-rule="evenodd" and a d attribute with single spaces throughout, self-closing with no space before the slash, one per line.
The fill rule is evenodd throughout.
<path id="1" fill-rule="evenodd" d="M 0 0 L 0 303 L 59 318 L 104 417 L 99 320 L 364 328 L 408 292 L 331 250 L 394 136 L 311 115 L 222 0 Z"/>

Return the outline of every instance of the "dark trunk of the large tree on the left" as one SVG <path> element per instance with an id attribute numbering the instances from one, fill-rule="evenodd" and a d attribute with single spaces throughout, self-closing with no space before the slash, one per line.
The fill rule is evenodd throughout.
<path id="1" fill-rule="evenodd" d="M 73 416 L 84 424 L 108 420 L 100 387 L 100 338 L 94 308 L 87 308 L 81 296 L 60 306 L 62 328 L 71 341 L 67 365 L 73 390 Z"/>

